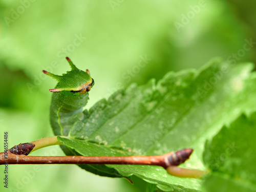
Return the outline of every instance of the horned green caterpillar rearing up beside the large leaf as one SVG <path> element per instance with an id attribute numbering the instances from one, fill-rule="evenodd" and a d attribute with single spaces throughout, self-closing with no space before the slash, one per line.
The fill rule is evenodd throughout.
<path id="1" fill-rule="evenodd" d="M 55 135 L 68 136 L 73 124 L 83 119 L 82 108 L 89 99 L 88 92 L 94 86 L 89 70 L 79 70 L 69 57 L 66 57 L 71 71 L 66 74 L 54 75 L 43 70 L 46 75 L 58 81 L 52 95 L 50 121 Z"/>

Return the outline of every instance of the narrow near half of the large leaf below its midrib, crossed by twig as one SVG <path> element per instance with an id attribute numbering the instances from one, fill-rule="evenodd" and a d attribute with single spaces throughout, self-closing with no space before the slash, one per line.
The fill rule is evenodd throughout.
<path id="1" fill-rule="evenodd" d="M 108 146 L 98 145 L 95 143 L 84 142 L 81 140 L 70 140 L 67 138 L 61 138 L 58 136 L 58 140 L 63 142 L 66 146 L 74 148 L 79 154 L 83 156 L 127 156 L 129 153 L 115 150 Z M 196 179 L 181 179 L 170 176 L 166 173 L 165 169 L 158 166 L 150 165 L 106 165 L 108 167 L 115 168 L 122 176 L 130 177 L 135 175 L 148 181 L 150 183 L 157 184 L 158 187 L 164 191 L 177 190 L 177 191 L 197 191 L 194 189 L 199 186 L 199 181 Z M 183 186 L 175 183 L 184 182 Z M 171 184 L 173 183 L 173 184 Z"/>

